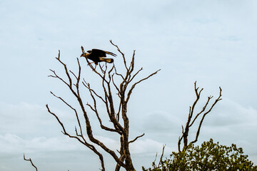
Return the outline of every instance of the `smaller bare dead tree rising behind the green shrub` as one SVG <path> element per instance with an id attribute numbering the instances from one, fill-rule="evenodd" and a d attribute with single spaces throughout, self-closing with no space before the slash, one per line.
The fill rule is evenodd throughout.
<path id="1" fill-rule="evenodd" d="M 193 114 L 194 114 L 194 110 L 195 110 L 195 107 L 196 107 L 196 104 L 198 102 L 198 100 L 200 99 L 200 95 L 201 95 L 201 91 L 203 90 L 203 88 L 201 88 L 201 90 L 198 91 L 199 87 L 196 88 L 196 82 L 194 83 L 194 89 L 195 89 L 195 93 L 196 93 L 196 100 L 193 102 L 193 105 L 189 107 L 189 113 L 188 113 L 188 120 L 186 122 L 186 127 L 183 128 L 183 125 L 182 125 L 182 135 L 181 137 L 178 138 L 178 151 L 181 152 L 181 140 L 183 140 L 183 149 L 185 149 L 187 146 L 188 146 L 188 133 L 189 133 L 189 129 L 191 128 L 191 126 L 193 125 L 193 123 L 195 123 L 196 119 L 198 118 L 198 116 L 201 115 L 201 120 L 200 120 L 200 123 L 198 125 L 198 129 L 197 129 L 197 132 L 196 132 L 196 138 L 194 140 L 192 140 L 190 143 L 195 143 L 197 142 L 198 140 L 198 136 L 200 134 L 200 130 L 201 130 L 201 125 L 203 124 L 203 120 L 204 118 L 206 117 L 206 115 L 208 113 L 211 112 L 211 110 L 213 109 L 214 105 L 216 105 L 216 103 L 219 101 L 219 100 L 222 100 L 221 98 L 221 87 L 219 87 L 219 90 L 220 90 L 220 93 L 219 93 L 219 96 L 218 98 L 216 98 L 216 100 L 213 102 L 213 104 L 211 105 L 211 108 L 209 108 L 208 110 L 206 110 L 207 106 L 208 106 L 208 103 L 210 102 L 211 98 L 213 98 L 212 95 L 208 96 L 208 99 L 205 103 L 205 105 L 203 105 L 203 109 L 197 113 L 196 115 L 194 115 L 194 118 L 193 118 Z"/>

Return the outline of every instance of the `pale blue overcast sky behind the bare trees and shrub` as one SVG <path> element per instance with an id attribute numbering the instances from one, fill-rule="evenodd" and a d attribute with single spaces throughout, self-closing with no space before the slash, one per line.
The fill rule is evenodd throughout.
<path id="1" fill-rule="evenodd" d="M 143 67 L 138 79 L 161 69 L 136 87 L 129 104 L 131 139 L 146 134 L 131 145 L 136 170 L 150 167 L 163 144 L 167 157 L 177 150 L 195 100 L 194 81 L 204 88 L 197 110 L 223 89 L 198 142 L 236 143 L 257 164 L 256 1 L 1 0 L 0 23 L 0 170 L 34 170 L 24 152 L 39 170 L 99 170 L 98 157 L 66 138 L 47 113 L 46 103 L 74 133 L 74 115 L 49 91 L 68 99 L 71 94 L 47 76 L 49 68 L 62 72 L 54 58 L 58 50 L 76 71 L 81 46 L 118 54 L 119 66 L 121 55 L 110 39 L 128 60 L 136 50 L 136 68 Z M 85 78 L 96 83 L 83 67 Z M 91 122 L 99 139 L 119 148 L 119 138 Z M 114 160 L 104 157 L 106 170 L 114 170 Z"/>

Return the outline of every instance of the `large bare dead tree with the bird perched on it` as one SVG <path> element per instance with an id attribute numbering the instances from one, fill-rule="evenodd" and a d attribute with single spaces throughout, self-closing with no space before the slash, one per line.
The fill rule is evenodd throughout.
<path id="1" fill-rule="evenodd" d="M 89 149 L 91 149 L 94 153 L 96 153 L 96 155 L 99 156 L 99 160 L 101 161 L 101 170 L 105 170 L 104 157 L 101 154 L 101 152 L 99 152 L 99 150 L 96 149 L 96 146 L 101 147 L 101 149 L 109 153 L 109 155 L 111 155 L 114 158 L 114 160 L 116 161 L 115 170 L 118 171 L 121 167 L 124 167 L 126 170 L 131 171 L 135 169 L 133 167 L 133 162 L 131 160 L 129 145 L 130 143 L 136 141 L 138 138 L 141 138 L 144 134 L 139 135 L 136 138 L 133 138 L 132 140 L 129 139 L 129 116 L 127 113 L 127 106 L 129 103 L 129 99 L 131 98 L 131 93 L 133 89 L 136 87 L 136 85 L 155 75 L 156 73 L 158 73 L 159 70 L 154 73 L 151 73 L 151 75 L 142 78 L 139 81 L 134 81 L 134 78 L 136 78 L 138 73 L 143 69 L 141 68 L 138 71 L 133 72 L 135 51 L 133 51 L 131 62 L 128 65 L 124 53 L 122 53 L 119 47 L 112 43 L 112 41 L 110 42 L 113 46 L 117 48 L 117 51 L 119 51 L 123 58 L 122 65 L 124 65 L 126 71 L 125 74 L 119 73 L 114 64 L 112 64 L 111 68 L 108 68 L 108 65 L 105 64 L 103 66 L 99 65 L 99 69 L 95 69 L 86 58 L 88 66 L 92 69 L 92 72 L 89 74 L 95 74 L 101 79 L 101 93 L 103 93 L 104 95 L 100 95 L 100 93 L 96 92 L 94 88 L 91 88 L 90 83 L 88 83 L 85 78 L 81 78 L 81 72 L 84 70 L 81 69 L 81 63 L 79 61 L 79 58 L 76 59 L 79 71 L 77 74 L 75 74 L 73 71 L 70 71 L 66 66 L 66 63 L 64 63 L 61 60 L 59 51 L 59 56 L 56 57 L 56 60 L 59 61 L 59 63 L 64 67 L 66 78 L 61 78 L 56 73 L 56 71 L 51 70 L 52 75 L 50 77 L 57 78 L 62 83 L 64 83 L 64 85 L 66 85 L 69 88 L 70 92 L 74 95 L 77 103 L 79 104 L 79 108 L 75 108 L 71 106 L 68 102 L 66 102 L 64 98 L 61 98 L 51 92 L 51 94 L 54 95 L 54 97 L 58 98 L 65 105 L 71 108 L 74 115 L 76 115 L 76 125 L 79 125 L 79 129 L 75 127 L 74 133 L 69 133 L 66 130 L 65 125 L 59 119 L 58 115 L 56 115 L 56 113 L 50 110 L 49 105 L 46 105 L 46 108 L 49 111 L 49 113 L 51 113 L 51 115 L 54 115 L 56 120 L 59 122 L 59 125 L 61 125 L 62 128 L 62 133 L 64 133 L 64 135 L 67 135 L 70 138 L 75 138 L 86 147 L 89 147 Z M 85 53 L 83 46 L 81 46 L 81 50 L 82 53 Z M 116 80 L 120 80 L 120 82 L 117 83 Z M 81 97 L 81 90 L 87 90 L 89 92 L 89 96 L 86 98 Z M 85 103 L 85 101 L 87 101 L 86 99 L 89 98 L 93 101 L 93 103 Z M 116 103 L 114 103 L 114 98 L 119 99 L 119 105 L 115 105 Z M 111 126 L 106 126 L 102 122 L 101 115 L 103 115 L 103 113 L 101 113 L 101 115 L 99 113 L 99 101 L 103 103 L 105 106 L 104 114 L 108 115 L 109 121 L 111 122 Z M 101 126 L 101 129 L 119 135 L 119 150 L 110 149 L 108 145 L 104 144 L 103 142 L 101 142 L 101 140 L 96 138 L 96 136 L 94 135 L 94 130 L 92 130 L 91 123 L 89 120 L 89 113 L 94 113 L 96 115 L 96 118 L 99 120 L 99 125 Z M 82 120 L 80 117 L 81 115 L 83 116 Z M 86 125 L 86 129 L 84 129 L 83 124 Z"/>

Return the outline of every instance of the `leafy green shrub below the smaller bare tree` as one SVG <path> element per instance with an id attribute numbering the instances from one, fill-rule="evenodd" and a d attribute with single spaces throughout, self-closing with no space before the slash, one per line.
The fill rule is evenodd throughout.
<path id="1" fill-rule="evenodd" d="M 153 162 L 152 169 L 143 167 L 143 171 L 171 170 L 257 170 L 257 166 L 248 160 L 248 155 L 243 155 L 241 147 L 219 145 L 211 139 L 201 147 L 189 144 L 181 152 L 172 152 L 170 158 L 161 160 L 158 166 Z"/>

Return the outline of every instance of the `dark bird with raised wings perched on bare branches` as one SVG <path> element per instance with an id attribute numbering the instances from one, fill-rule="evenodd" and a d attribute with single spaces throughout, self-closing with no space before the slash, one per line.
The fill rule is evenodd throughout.
<path id="1" fill-rule="evenodd" d="M 109 51 L 103 51 L 101 49 L 93 48 L 91 51 L 87 51 L 88 53 L 82 53 L 81 56 L 84 56 L 85 58 L 90 59 L 93 61 L 92 63 L 95 63 L 96 66 L 100 62 L 106 62 L 106 63 L 113 63 L 113 58 L 106 58 L 106 54 L 111 56 L 117 56 L 116 54 L 109 52 Z M 90 64 L 90 63 L 89 63 Z"/>

